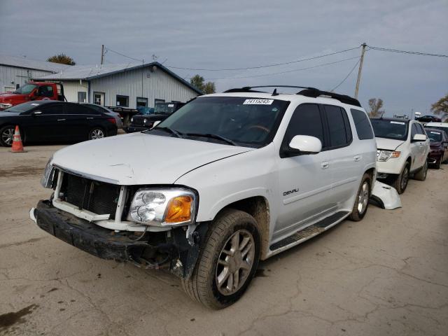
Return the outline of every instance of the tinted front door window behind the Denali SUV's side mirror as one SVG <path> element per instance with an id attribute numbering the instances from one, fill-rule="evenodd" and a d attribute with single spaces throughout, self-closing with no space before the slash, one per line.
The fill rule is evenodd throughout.
<path id="1" fill-rule="evenodd" d="M 297 106 L 286 130 L 285 140 L 289 144 L 296 135 L 309 135 L 323 142 L 323 127 L 321 112 L 317 104 L 302 104 Z"/>

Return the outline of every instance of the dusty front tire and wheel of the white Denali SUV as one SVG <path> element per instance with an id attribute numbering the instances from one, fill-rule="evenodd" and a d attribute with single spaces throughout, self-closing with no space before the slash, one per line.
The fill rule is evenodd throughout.
<path id="1" fill-rule="evenodd" d="M 255 219 L 244 211 L 226 209 L 212 223 L 202 252 L 183 290 L 211 309 L 239 300 L 260 259 L 260 235 Z"/>

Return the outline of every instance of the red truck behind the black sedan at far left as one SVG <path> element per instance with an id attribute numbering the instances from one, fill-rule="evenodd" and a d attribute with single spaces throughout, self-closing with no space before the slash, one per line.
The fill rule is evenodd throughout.
<path id="1" fill-rule="evenodd" d="M 61 83 L 29 82 L 14 92 L 0 94 L 0 110 L 30 100 L 66 100 Z"/>

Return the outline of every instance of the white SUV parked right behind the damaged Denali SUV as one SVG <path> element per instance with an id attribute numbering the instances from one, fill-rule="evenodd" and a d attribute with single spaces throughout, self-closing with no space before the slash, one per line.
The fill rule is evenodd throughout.
<path id="1" fill-rule="evenodd" d="M 378 179 L 384 179 L 399 194 L 405 192 L 409 177 L 424 181 L 428 172 L 429 139 L 416 120 L 372 118 L 377 139 Z"/>

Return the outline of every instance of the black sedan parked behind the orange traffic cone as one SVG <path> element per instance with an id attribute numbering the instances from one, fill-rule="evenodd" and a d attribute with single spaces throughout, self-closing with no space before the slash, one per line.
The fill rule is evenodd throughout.
<path id="1" fill-rule="evenodd" d="M 0 111 L 0 145 L 11 146 L 15 126 L 23 142 L 84 141 L 117 134 L 115 118 L 68 102 L 39 100 Z"/>

